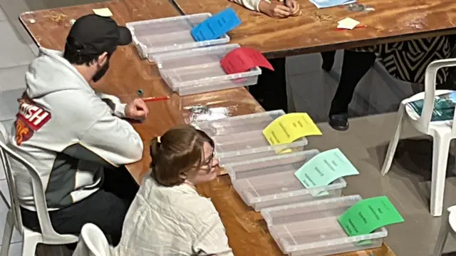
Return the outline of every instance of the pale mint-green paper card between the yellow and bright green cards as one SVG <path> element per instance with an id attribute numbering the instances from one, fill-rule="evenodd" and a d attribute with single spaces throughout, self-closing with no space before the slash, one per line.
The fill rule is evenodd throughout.
<path id="1" fill-rule="evenodd" d="M 294 175 L 306 188 L 318 188 L 329 185 L 334 180 L 349 175 L 359 174 L 350 160 L 338 148 L 326 150 L 311 158 L 296 170 Z M 314 196 L 327 195 L 326 191 L 312 193 Z"/>

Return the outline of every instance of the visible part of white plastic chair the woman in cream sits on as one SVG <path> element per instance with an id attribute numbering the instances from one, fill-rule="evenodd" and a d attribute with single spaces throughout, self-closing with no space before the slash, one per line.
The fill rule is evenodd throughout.
<path id="1" fill-rule="evenodd" d="M 111 256 L 109 243 L 103 231 L 92 223 L 84 225 L 73 256 Z"/>

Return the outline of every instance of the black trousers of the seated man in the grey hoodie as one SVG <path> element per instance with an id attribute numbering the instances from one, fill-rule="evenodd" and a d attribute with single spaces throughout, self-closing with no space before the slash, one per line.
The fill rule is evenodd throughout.
<path id="1" fill-rule="evenodd" d="M 105 180 L 97 192 L 78 203 L 50 211 L 51 223 L 59 234 L 79 235 L 83 225 L 93 223 L 118 245 L 122 226 L 139 185 L 125 167 L 105 169 Z M 40 232 L 36 212 L 21 208 L 22 221 L 29 229 Z"/>

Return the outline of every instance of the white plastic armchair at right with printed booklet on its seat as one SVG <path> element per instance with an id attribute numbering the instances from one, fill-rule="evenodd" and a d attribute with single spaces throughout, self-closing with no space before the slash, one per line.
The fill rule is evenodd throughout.
<path id="1" fill-rule="evenodd" d="M 430 195 L 430 213 L 432 216 L 441 216 L 443 208 L 443 193 L 445 190 L 445 177 L 447 170 L 447 159 L 450 151 L 450 142 L 456 138 L 456 116 L 451 121 L 431 122 L 434 98 L 436 95 L 449 93 L 448 90 L 435 91 L 435 79 L 440 68 L 456 66 L 456 58 L 433 61 L 426 68 L 425 91 L 403 100 L 398 111 L 397 128 L 393 138 L 390 140 L 385 162 L 381 170 L 382 175 L 388 173 L 393 162 L 395 150 L 400 139 L 400 132 L 403 123 L 410 123 L 413 128 L 421 133 L 431 135 L 433 138 L 432 150 L 432 183 Z M 423 112 L 416 118 L 416 114 L 406 104 L 424 98 Z M 415 117 L 414 117 L 415 116 Z"/>

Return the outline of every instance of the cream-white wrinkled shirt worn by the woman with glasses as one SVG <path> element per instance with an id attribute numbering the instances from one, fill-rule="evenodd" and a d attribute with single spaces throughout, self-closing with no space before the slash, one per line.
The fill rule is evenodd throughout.
<path id="1" fill-rule="evenodd" d="M 233 255 L 219 213 L 189 185 L 163 187 L 147 175 L 113 256 Z"/>

